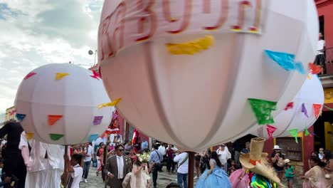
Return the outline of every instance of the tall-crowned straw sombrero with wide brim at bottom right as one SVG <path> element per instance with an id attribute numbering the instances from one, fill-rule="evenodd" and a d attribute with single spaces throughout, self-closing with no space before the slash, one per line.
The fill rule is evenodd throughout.
<path id="1" fill-rule="evenodd" d="M 264 144 L 265 140 L 263 138 L 253 138 L 250 144 L 250 153 L 240 155 L 240 163 L 243 164 L 243 167 L 250 169 L 250 171 L 255 174 L 267 177 L 276 184 L 280 185 L 280 187 L 285 187 L 277 177 L 275 170 L 268 166 L 268 153 L 263 153 Z"/>

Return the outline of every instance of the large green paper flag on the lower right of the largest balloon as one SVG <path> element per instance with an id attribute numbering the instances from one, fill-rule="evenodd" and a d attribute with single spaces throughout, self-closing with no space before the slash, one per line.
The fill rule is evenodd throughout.
<path id="1" fill-rule="evenodd" d="M 276 110 L 276 102 L 268 100 L 260 100 L 255 98 L 248 98 L 253 113 L 257 117 L 259 125 L 273 124 L 272 111 Z"/>

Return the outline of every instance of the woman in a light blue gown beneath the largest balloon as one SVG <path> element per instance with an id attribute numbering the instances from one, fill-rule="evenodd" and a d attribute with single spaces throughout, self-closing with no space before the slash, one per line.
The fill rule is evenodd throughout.
<path id="1" fill-rule="evenodd" d="M 196 188 L 223 187 L 231 188 L 231 183 L 228 179 L 228 174 L 223 170 L 221 161 L 218 159 L 216 151 L 211 152 L 211 160 L 209 160 L 210 169 L 206 169 L 199 181 L 196 183 Z"/>

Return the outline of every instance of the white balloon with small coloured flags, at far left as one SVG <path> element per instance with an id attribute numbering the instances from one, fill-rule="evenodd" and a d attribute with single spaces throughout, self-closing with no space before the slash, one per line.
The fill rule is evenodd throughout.
<path id="1" fill-rule="evenodd" d="M 96 73 L 69 63 L 31 71 L 16 94 L 17 117 L 28 137 L 58 145 L 92 142 L 110 125 L 110 102 Z"/>

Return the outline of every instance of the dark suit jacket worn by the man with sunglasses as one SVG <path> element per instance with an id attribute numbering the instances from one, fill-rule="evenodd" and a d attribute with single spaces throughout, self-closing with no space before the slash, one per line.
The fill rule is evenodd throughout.
<path id="1" fill-rule="evenodd" d="M 129 172 L 132 172 L 132 162 L 129 157 L 122 156 L 124 160 L 124 177 Z M 107 177 L 107 185 L 114 188 L 122 188 L 122 180 L 118 179 L 118 165 L 117 165 L 117 155 L 112 155 L 107 159 L 104 169 L 105 174 L 108 172 L 115 175 L 115 177 Z"/>

